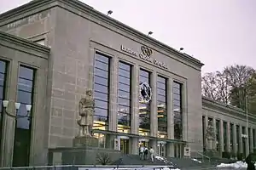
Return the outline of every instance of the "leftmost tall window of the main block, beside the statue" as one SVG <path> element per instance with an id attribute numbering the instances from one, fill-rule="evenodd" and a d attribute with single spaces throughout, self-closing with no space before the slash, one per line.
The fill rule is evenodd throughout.
<path id="1" fill-rule="evenodd" d="M 110 59 L 107 56 L 96 53 L 94 62 L 95 113 L 93 129 L 108 129 L 109 63 Z"/>

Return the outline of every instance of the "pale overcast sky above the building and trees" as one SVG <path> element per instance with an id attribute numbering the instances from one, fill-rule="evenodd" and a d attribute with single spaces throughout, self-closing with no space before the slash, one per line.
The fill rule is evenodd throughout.
<path id="1" fill-rule="evenodd" d="M 81 0 L 172 48 L 200 59 L 203 73 L 225 65 L 256 69 L 256 0 Z M 0 0 L 0 13 L 29 0 Z"/>

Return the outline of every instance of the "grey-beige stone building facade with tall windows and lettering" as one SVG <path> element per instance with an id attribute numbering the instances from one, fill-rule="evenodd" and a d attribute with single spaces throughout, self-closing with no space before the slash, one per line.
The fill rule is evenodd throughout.
<path id="1" fill-rule="evenodd" d="M 209 101 L 212 105 L 205 106 L 201 98 L 201 61 L 79 1 L 31 1 L 0 14 L 0 30 L 29 44 L 22 46 L 25 54 L 35 50 L 30 46 L 40 53 L 12 59 L 9 52 L 0 51 L 1 62 L 15 70 L 4 73 L 14 82 L 12 88 L 4 86 L 2 99 L 17 101 L 12 93 L 18 90 L 19 59 L 37 65 L 38 72 L 38 82 L 33 83 L 38 85 L 33 90 L 37 98 L 30 100 L 30 144 L 20 148 L 26 150 L 20 155 L 23 164 L 15 163 L 15 133 L 9 133 L 1 138 L 3 167 L 45 165 L 49 148 L 72 146 L 78 134 L 79 99 L 86 89 L 93 89 L 96 99 L 94 135 L 99 147 L 124 153 L 137 154 L 143 144 L 160 156 L 182 157 L 185 146 L 197 156 L 204 148 L 202 116 L 224 117 L 213 106 L 217 104 Z M 9 78 L 3 82 L 8 84 Z M 8 109 L 14 111 L 15 106 Z M 237 122 L 239 118 L 244 122 L 243 116 Z M 3 156 L 6 153 L 11 155 Z"/>

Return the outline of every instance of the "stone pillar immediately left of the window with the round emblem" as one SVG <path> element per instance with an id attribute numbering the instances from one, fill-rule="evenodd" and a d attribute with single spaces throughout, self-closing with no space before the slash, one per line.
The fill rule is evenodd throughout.
<path id="1" fill-rule="evenodd" d="M 138 93 L 139 93 L 139 67 L 138 65 L 134 65 L 132 67 L 131 73 L 131 133 L 138 134 L 139 127 L 139 101 L 138 101 Z"/>

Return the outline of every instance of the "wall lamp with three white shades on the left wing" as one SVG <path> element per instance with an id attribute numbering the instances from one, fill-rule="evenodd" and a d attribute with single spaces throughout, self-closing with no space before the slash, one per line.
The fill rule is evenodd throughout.
<path id="1" fill-rule="evenodd" d="M 15 102 L 15 109 L 16 109 L 15 114 L 11 114 L 7 111 L 8 105 L 9 105 L 9 101 L 8 100 L 3 100 L 3 114 L 6 114 L 7 116 L 14 117 L 15 119 L 24 118 L 24 117 L 27 117 L 27 118 L 31 117 L 30 116 L 30 111 L 31 111 L 32 105 L 26 105 L 26 115 L 25 116 L 17 115 L 17 112 L 20 109 L 20 103 Z"/>

